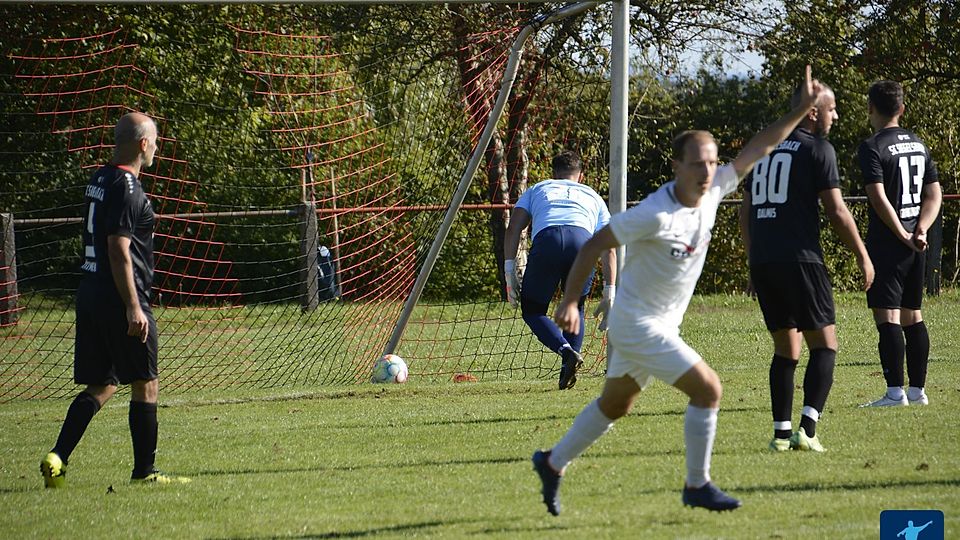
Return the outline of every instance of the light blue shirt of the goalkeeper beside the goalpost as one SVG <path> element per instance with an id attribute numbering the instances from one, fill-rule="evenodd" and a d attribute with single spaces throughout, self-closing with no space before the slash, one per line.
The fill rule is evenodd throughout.
<path id="1" fill-rule="evenodd" d="M 573 180 L 538 182 L 520 195 L 516 207 L 530 214 L 532 238 L 557 225 L 572 225 L 594 234 L 610 221 L 610 211 L 597 192 Z"/>

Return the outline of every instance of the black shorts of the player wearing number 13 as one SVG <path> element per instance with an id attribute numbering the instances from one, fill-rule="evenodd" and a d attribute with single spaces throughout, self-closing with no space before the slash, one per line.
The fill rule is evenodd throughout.
<path id="1" fill-rule="evenodd" d="M 867 243 L 876 274 L 867 290 L 867 306 L 879 309 L 920 309 L 923 303 L 926 253 L 900 242 Z"/>

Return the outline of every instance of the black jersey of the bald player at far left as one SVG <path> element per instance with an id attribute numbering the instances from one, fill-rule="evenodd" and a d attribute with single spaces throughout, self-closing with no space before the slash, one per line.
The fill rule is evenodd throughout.
<path id="1" fill-rule="evenodd" d="M 150 299 L 153 285 L 153 227 L 155 216 L 140 181 L 126 169 L 106 165 L 90 177 L 84 192 L 83 258 L 84 281 L 97 285 L 104 299 L 119 299 L 107 237 L 130 239 L 133 280 L 141 303 Z"/>

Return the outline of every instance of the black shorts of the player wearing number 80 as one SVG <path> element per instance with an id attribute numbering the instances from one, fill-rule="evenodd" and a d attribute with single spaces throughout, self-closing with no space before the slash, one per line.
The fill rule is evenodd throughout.
<path id="1" fill-rule="evenodd" d="M 833 287 L 819 263 L 765 263 L 750 266 L 763 322 L 775 332 L 819 330 L 836 324 Z"/>

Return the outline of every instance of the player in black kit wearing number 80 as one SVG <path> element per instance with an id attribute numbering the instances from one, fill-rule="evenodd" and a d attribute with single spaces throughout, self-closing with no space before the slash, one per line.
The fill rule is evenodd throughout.
<path id="1" fill-rule="evenodd" d="M 777 452 L 823 452 L 817 422 L 833 385 L 837 356 L 833 291 L 820 247 L 820 203 L 840 239 L 856 255 L 869 289 L 874 269 L 840 193 L 840 173 L 826 136 L 839 118 L 836 97 L 824 86 L 789 137 L 756 163 L 746 186 L 740 228 L 750 279 L 773 338 L 770 401 Z M 793 104 L 799 103 L 795 93 Z M 794 372 L 801 340 L 810 351 L 803 377 L 800 427 L 793 431 Z"/>

